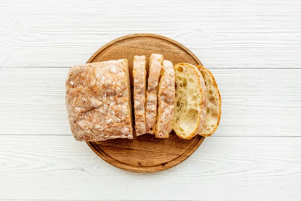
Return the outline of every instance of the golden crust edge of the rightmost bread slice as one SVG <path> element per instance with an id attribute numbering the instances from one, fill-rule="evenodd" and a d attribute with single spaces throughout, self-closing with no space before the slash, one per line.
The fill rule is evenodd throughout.
<path id="1" fill-rule="evenodd" d="M 205 79 L 211 80 L 210 83 L 206 82 L 205 86 L 208 89 L 208 87 L 209 87 L 208 85 L 210 84 L 215 89 L 216 95 L 218 97 L 218 98 L 214 99 L 217 102 L 217 112 L 218 112 L 216 125 L 214 125 L 214 128 L 212 129 L 212 131 L 208 133 L 208 132 L 206 132 L 206 128 L 205 128 L 206 124 L 204 124 L 202 129 L 199 132 L 199 135 L 201 135 L 203 137 L 209 137 L 216 131 L 217 127 L 219 126 L 219 122 L 220 122 L 221 115 L 222 115 L 222 97 L 221 97 L 220 91 L 218 89 L 217 83 L 215 81 L 215 78 L 214 78 L 212 72 L 202 65 L 196 65 L 196 67 L 199 69 L 200 72 L 204 71 L 204 75 L 203 75 L 203 73 L 201 73 L 204 80 Z M 211 101 L 210 98 L 211 97 L 209 97 L 209 93 L 207 93 L 208 107 L 209 107 L 209 104 Z M 206 118 L 210 118 L 210 116 L 208 116 Z"/>

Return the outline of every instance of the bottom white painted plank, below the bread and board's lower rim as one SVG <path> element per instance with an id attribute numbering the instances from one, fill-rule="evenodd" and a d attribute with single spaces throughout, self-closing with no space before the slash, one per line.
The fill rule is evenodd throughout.
<path id="1" fill-rule="evenodd" d="M 174 168 L 132 173 L 72 136 L 0 136 L 1 199 L 299 200 L 300 146 L 298 137 L 211 137 Z"/>

